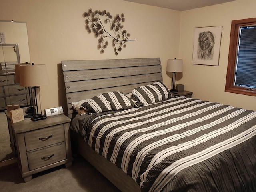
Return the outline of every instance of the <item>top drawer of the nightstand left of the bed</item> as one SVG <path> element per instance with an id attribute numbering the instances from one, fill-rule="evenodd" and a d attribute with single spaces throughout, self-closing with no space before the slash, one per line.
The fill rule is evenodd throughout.
<path id="1" fill-rule="evenodd" d="M 65 141 L 64 125 L 24 133 L 26 151 Z"/>

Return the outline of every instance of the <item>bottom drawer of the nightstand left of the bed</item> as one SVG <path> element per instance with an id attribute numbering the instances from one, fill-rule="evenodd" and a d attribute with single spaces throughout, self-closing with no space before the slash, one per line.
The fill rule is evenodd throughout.
<path id="1" fill-rule="evenodd" d="M 27 153 L 29 170 L 44 167 L 66 159 L 65 143 Z"/>

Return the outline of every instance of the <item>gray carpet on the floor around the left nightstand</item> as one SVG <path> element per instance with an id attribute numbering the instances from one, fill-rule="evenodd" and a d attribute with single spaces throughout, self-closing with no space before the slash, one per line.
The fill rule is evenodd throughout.
<path id="1" fill-rule="evenodd" d="M 33 175 L 24 183 L 18 166 L 0 172 L 3 192 L 120 192 L 84 158 L 74 158 L 72 166 L 58 166 Z"/>

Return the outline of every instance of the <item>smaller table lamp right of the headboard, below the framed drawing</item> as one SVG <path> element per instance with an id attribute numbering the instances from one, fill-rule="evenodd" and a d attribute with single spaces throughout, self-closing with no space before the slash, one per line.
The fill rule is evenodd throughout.
<path id="1" fill-rule="evenodd" d="M 172 72 L 172 89 L 170 92 L 177 92 L 175 89 L 176 73 L 183 71 L 183 60 L 182 59 L 168 59 L 166 72 Z"/>

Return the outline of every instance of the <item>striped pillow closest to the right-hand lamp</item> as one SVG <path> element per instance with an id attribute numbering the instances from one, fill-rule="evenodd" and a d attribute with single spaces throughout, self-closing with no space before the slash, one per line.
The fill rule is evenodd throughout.
<path id="1" fill-rule="evenodd" d="M 137 87 L 132 90 L 132 93 L 144 106 L 164 101 L 172 97 L 172 94 L 160 81 L 150 85 Z"/>

